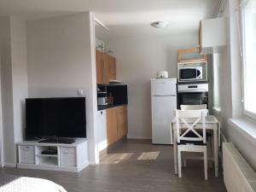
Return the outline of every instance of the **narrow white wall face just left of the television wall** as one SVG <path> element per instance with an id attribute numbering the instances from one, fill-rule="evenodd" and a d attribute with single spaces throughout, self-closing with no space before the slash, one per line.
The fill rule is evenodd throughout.
<path id="1" fill-rule="evenodd" d="M 28 96 L 26 61 L 26 21 L 10 17 L 13 111 L 15 143 L 24 139 L 25 99 Z"/>

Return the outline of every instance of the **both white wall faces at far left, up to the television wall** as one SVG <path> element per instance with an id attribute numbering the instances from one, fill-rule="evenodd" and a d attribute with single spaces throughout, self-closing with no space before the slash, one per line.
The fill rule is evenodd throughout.
<path id="1" fill-rule="evenodd" d="M 0 23 L 4 166 L 15 166 L 15 143 L 23 138 L 27 97 L 26 25 L 15 16 L 2 17 Z"/>

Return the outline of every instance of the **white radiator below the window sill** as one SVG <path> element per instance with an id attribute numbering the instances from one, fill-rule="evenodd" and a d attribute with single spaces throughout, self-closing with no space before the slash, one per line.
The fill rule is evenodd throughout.
<path id="1" fill-rule="evenodd" d="M 232 143 L 223 143 L 223 166 L 228 192 L 256 191 L 256 174 Z"/>

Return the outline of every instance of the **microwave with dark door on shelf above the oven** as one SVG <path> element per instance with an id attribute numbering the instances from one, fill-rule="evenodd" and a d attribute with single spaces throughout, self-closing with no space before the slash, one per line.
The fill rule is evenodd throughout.
<path id="1" fill-rule="evenodd" d="M 203 79 L 203 67 L 182 67 L 179 69 L 179 81 L 197 81 Z"/>

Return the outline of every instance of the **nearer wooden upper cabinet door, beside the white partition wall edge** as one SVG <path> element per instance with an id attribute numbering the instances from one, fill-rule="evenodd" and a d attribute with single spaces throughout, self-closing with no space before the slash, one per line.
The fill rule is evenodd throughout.
<path id="1" fill-rule="evenodd" d="M 96 50 L 96 82 L 97 84 L 109 84 L 108 55 Z"/>

